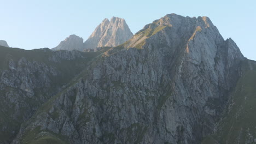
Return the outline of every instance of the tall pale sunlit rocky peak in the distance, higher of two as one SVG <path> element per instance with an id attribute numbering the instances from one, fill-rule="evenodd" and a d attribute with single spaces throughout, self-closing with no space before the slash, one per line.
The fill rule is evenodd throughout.
<path id="1" fill-rule="evenodd" d="M 132 32 L 124 19 L 112 17 L 104 19 L 89 39 L 84 42 L 86 49 L 96 49 L 103 46 L 118 46 L 132 37 Z"/>

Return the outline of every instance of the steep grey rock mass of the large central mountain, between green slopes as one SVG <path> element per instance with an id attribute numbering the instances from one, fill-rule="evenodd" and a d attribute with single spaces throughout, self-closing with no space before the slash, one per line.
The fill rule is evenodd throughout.
<path id="1" fill-rule="evenodd" d="M 243 61 L 208 17 L 166 15 L 98 55 L 12 143 L 200 143 L 217 128 Z"/>

